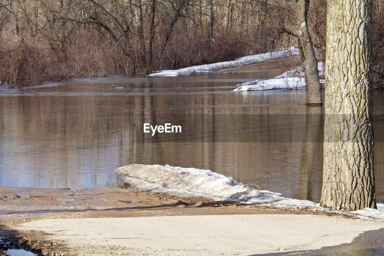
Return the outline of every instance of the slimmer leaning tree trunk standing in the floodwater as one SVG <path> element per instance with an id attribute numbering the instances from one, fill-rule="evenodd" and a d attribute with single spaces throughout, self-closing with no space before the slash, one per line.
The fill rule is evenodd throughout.
<path id="1" fill-rule="evenodd" d="M 305 83 L 307 91 L 308 105 L 323 104 L 321 95 L 321 85 L 319 81 L 319 71 L 317 59 L 311 42 L 311 35 L 308 30 L 307 14 L 310 0 L 291 0 L 296 11 L 299 52 L 301 65 L 305 73 Z"/>

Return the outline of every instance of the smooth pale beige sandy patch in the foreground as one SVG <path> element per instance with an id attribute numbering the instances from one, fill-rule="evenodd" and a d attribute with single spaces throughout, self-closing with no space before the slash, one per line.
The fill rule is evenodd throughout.
<path id="1" fill-rule="evenodd" d="M 331 227 L 331 228 L 330 228 Z M 65 241 L 76 255 L 249 255 L 351 243 L 384 223 L 294 214 L 41 219 L 19 225 Z"/>

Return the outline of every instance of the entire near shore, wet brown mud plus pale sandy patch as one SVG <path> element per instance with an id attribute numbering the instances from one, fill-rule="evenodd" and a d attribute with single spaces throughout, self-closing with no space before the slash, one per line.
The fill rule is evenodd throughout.
<path id="1" fill-rule="evenodd" d="M 45 255 L 252 254 L 351 243 L 384 223 L 131 188 L 0 188 L 0 236 Z M 335 216 L 336 215 L 336 216 Z M 12 244 L 11 244 L 12 245 Z"/>

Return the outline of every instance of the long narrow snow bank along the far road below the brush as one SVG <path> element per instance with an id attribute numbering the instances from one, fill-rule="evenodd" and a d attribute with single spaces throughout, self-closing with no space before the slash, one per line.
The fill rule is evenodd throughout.
<path id="1" fill-rule="evenodd" d="M 261 53 L 257 55 L 241 57 L 230 62 L 218 62 L 213 64 L 199 65 L 199 66 L 190 66 L 188 68 L 180 68 L 178 70 L 164 70 L 164 71 L 150 74 L 149 76 L 178 76 L 179 74 L 182 74 L 182 73 L 214 70 L 218 68 L 228 68 L 231 66 L 242 66 L 246 64 L 261 62 L 263 60 L 287 57 L 289 55 L 296 55 L 296 54 L 299 54 L 299 49 L 297 47 L 290 47 L 287 50 L 282 50 L 279 52 L 268 52 L 268 53 Z"/>

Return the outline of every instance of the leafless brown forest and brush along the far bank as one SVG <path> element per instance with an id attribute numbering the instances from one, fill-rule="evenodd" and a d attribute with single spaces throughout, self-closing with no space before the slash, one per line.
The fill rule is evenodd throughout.
<path id="1" fill-rule="evenodd" d="M 383 8 L 384 0 L 374 0 L 377 88 L 384 76 Z M 0 80 L 13 87 L 151 73 L 296 44 L 291 1 L 0 0 L 0 12 Z M 308 22 L 324 58 L 325 0 L 311 1 Z"/>

